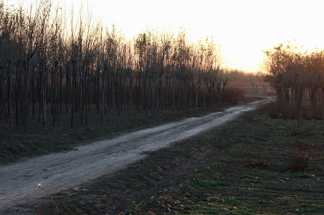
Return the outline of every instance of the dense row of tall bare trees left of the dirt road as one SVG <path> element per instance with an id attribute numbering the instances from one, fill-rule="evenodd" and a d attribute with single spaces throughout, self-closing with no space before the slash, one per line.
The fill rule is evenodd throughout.
<path id="1" fill-rule="evenodd" d="M 158 114 L 222 102 L 228 78 L 212 37 L 190 42 L 180 28 L 127 39 L 89 11 L 49 0 L 25 9 L 0 3 L 0 117 L 10 126 L 16 120 L 26 131 L 28 114 L 45 126 L 47 107 L 54 125 L 66 112 L 73 127 L 77 112 L 88 123 L 91 106 L 103 122 L 107 111 Z"/>

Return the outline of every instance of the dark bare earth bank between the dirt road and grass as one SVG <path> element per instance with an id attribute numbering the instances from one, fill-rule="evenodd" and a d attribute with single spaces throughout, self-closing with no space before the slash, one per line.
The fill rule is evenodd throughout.
<path id="1" fill-rule="evenodd" d="M 178 186 L 227 147 L 197 143 L 196 139 L 182 140 L 174 147 L 148 152 L 145 159 L 113 176 L 101 176 L 53 197 L 63 214 L 118 214 L 135 202 L 147 201 L 160 191 Z M 49 204 L 46 214 L 55 209 L 53 203 Z M 35 206 L 41 208 L 44 204 Z"/>

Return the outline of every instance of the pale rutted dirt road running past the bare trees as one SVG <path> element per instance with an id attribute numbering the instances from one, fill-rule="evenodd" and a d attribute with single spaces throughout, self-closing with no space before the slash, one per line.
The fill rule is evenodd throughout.
<path id="1" fill-rule="evenodd" d="M 113 139 L 93 142 L 63 153 L 24 159 L 0 165 L 0 214 L 8 208 L 46 194 L 35 192 L 41 183 L 47 193 L 75 187 L 87 180 L 111 174 L 146 155 L 141 152 L 168 147 L 180 139 L 221 125 L 259 102 L 234 106 L 223 112 L 147 128 Z"/>

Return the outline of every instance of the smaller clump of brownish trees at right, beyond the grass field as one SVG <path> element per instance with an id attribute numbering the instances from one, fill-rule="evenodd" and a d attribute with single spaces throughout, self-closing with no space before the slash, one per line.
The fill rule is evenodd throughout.
<path id="1" fill-rule="evenodd" d="M 323 118 L 324 50 L 301 51 L 287 42 L 264 53 L 266 79 L 276 90 L 277 113 L 284 118 Z"/>

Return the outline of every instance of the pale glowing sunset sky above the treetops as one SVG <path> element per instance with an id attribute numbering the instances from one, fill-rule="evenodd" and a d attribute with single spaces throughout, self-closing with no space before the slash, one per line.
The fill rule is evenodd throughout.
<path id="1" fill-rule="evenodd" d="M 81 0 L 65 0 L 67 8 Z M 86 2 L 83 0 L 83 2 Z M 184 27 L 188 38 L 213 36 L 225 65 L 257 71 L 262 50 L 296 40 L 324 49 L 324 0 L 88 0 L 103 23 L 128 38 L 152 28 Z"/>

